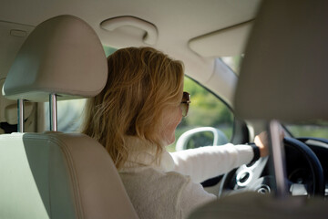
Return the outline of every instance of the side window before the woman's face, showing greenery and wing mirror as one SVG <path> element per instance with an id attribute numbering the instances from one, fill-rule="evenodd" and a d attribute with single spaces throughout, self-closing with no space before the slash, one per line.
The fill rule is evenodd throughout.
<path id="1" fill-rule="evenodd" d="M 176 130 L 176 141 L 168 151 L 179 151 L 231 140 L 233 114 L 218 97 L 185 77 L 184 90 L 190 93 L 190 111 Z"/>

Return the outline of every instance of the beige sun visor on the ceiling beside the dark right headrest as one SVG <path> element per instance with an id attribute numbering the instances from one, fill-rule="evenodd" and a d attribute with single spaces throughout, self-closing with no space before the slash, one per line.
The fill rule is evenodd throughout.
<path id="1" fill-rule="evenodd" d="M 233 57 L 244 52 L 252 22 L 231 26 L 190 40 L 190 48 L 201 57 Z"/>

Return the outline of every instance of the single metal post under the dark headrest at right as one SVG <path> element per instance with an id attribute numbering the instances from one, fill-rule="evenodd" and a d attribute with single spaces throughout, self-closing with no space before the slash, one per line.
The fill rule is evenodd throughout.
<path id="1" fill-rule="evenodd" d="M 280 123 L 272 120 L 269 123 L 270 140 L 271 140 L 271 159 L 274 172 L 274 183 L 276 186 L 275 194 L 277 198 L 285 198 L 288 194 L 286 182 L 286 165 L 284 156 L 284 146 L 281 140 Z"/>

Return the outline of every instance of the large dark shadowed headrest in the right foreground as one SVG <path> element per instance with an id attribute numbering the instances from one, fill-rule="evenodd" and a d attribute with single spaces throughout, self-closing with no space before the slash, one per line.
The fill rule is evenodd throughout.
<path id="1" fill-rule="evenodd" d="M 328 3 L 263 1 L 235 94 L 243 119 L 328 120 Z"/>

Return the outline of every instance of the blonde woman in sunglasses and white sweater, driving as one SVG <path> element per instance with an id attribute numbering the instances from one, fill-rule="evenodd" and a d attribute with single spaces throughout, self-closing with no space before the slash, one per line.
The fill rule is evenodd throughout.
<path id="1" fill-rule="evenodd" d="M 188 112 L 183 65 L 150 47 L 119 49 L 108 57 L 105 89 L 87 103 L 83 132 L 105 146 L 142 218 L 185 218 L 215 200 L 200 182 L 267 154 L 231 144 L 169 154 L 175 130 Z M 256 156 L 255 156 L 256 155 Z"/>

